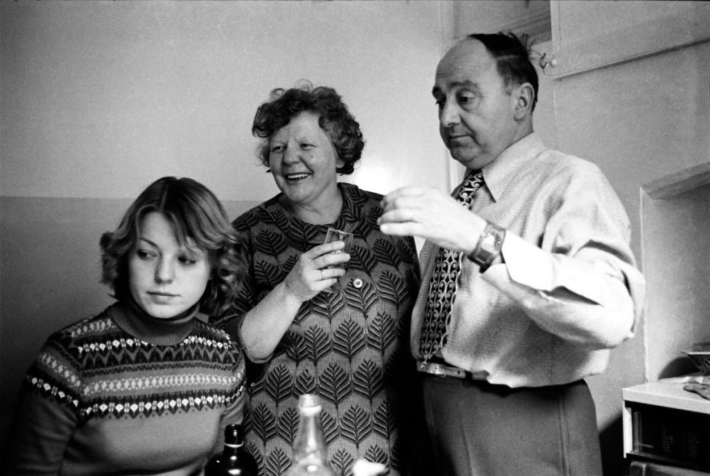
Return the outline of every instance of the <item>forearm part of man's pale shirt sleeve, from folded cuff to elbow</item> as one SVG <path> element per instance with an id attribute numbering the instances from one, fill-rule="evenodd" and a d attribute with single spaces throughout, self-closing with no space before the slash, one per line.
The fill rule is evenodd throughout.
<path id="1" fill-rule="evenodd" d="M 589 348 L 613 348 L 633 337 L 643 304 L 643 277 L 632 265 L 596 250 L 575 257 L 547 253 L 509 233 L 505 265 L 483 275 L 537 326 Z"/>

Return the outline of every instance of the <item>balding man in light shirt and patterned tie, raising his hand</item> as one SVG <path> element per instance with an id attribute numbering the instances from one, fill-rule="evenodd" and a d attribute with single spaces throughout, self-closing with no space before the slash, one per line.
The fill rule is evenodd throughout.
<path id="1" fill-rule="evenodd" d="M 515 35 L 444 55 L 439 131 L 466 167 L 453 197 L 405 187 L 383 233 L 426 239 L 411 344 L 439 475 L 601 475 L 585 377 L 633 336 L 645 283 L 596 165 L 532 131 L 537 74 Z"/>

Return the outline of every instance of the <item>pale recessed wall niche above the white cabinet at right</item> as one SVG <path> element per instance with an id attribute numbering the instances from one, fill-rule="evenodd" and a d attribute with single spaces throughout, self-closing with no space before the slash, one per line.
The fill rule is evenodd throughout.
<path id="1" fill-rule="evenodd" d="M 710 170 L 710 162 L 706 162 Z M 710 175 L 710 172 L 705 172 Z M 697 371 L 682 353 L 710 341 L 710 176 L 679 194 L 641 195 L 648 287 L 645 370 L 648 380 Z M 645 190 L 648 187 L 645 187 Z"/>

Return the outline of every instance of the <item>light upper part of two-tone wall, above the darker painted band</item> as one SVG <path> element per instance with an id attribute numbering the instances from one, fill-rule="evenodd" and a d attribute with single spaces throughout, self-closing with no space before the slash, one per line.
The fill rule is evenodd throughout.
<path id="1" fill-rule="evenodd" d="M 430 99 L 437 2 L 91 1 L 2 6 L 3 175 L 11 197 L 133 197 L 187 175 L 270 197 L 251 120 L 299 79 L 342 94 L 367 140 L 354 180 L 439 183 Z M 344 21 L 347 19 L 347 21 Z M 432 167 L 437 168 L 437 167 Z M 396 172 L 395 172 L 396 171 Z"/>

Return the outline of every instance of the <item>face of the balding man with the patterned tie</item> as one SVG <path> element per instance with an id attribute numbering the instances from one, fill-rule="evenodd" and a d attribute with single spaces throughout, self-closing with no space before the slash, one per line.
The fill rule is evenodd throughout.
<path id="1" fill-rule="evenodd" d="M 496 60 L 479 40 L 465 40 L 447 52 L 432 94 L 442 140 L 466 168 L 481 169 L 515 142 L 515 94 L 506 93 Z"/>

